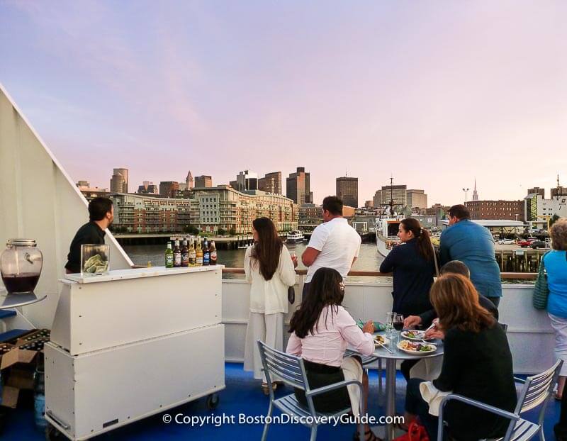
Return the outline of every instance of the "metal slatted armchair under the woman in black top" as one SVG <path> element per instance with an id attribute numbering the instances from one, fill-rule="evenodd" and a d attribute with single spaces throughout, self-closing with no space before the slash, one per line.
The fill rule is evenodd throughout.
<path id="1" fill-rule="evenodd" d="M 503 416 L 510 419 L 510 424 L 506 431 L 506 435 L 498 440 L 502 441 L 527 441 L 531 440 L 534 435 L 539 433 L 539 439 L 545 441 L 544 437 L 544 415 L 547 402 L 549 397 L 553 393 L 554 386 L 559 376 L 559 371 L 561 370 L 561 365 L 563 360 L 558 360 L 552 367 L 547 369 L 541 374 L 534 376 L 528 376 L 527 379 L 515 379 L 516 381 L 521 381 L 524 383 L 522 391 L 520 391 L 520 396 L 514 412 L 503 411 L 503 409 L 496 408 L 494 406 L 489 406 L 488 404 L 481 403 L 479 401 L 471 400 L 461 395 L 450 394 L 446 396 L 441 405 L 439 406 L 439 432 L 437 435 L 437 441 L 443 440 L 443 408 L 445 404 L 449 401 L 461 401 L 467 403 L 471 406 L 481 408 L 490 413 L 495 413 L 496 415 Z M 539 418 L 537 423 L 532 423 L 531 421 L 524 420 L 520 418 L 520 415 L 524 412 L 530 411 L 541 404 L 541 409 L 539 411 Z"/>

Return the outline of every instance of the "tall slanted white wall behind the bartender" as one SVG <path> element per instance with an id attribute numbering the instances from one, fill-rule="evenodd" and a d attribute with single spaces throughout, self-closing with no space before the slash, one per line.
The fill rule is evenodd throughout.
<path id="1" fill-rule="evenodd" d="M 85 153 L 77 155 L 85 155 Z M 43 252 L 43 271 L 36 291 L 45 301 L 22 313 L 38 328 L 50 328 L 59 298 L 57 279 L 64 274 L 69 244 L 89 220 L 86 199 L 50 150 L 26 121 L 0 84 L 0 252 L 10 238 L 35 239 Z M 132 262 L 113 238 L 111 269 Z"/>

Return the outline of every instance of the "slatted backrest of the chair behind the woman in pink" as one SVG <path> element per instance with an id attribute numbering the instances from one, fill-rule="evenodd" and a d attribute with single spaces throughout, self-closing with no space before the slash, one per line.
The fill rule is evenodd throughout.
<path id="1" fill-rule="evenodd" d="M 308 384 L 308 381 L 303 359 L 275 350 L 260 340 L 258 340 L 258 347 L 268 383 L 273 381 L 271 377 L 274 375 L 277 379 L 290 386 L 303 389 L 304 391 L 308 389 L 305 386 Z"/>

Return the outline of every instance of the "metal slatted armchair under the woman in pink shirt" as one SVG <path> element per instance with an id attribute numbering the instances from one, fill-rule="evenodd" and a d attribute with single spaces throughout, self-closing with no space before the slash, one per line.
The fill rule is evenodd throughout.
<path id="1" fill-rule="evenodd" d="M 310 389 L 307 381 L 307 372 L 305 372 L 305 364 L 303 359 L 295 357 L 294 355 L 280 352 L 269 346 L 264 342 L 258 340 L 258 347 L 260 350 L 260 357 L 262 358 L 262 366 L 264 366 L 264 374 L 266 374 L 266 381 L 269 384 L 270 392 L 270 405 L 268 408 L 268 415 L 266 415 L 266 424 L 264 425 L 264 432 L 262 432 L 262 441 L 266 440 L 268 435 L 269 423 L 271 414 L 274 411 L 274 406 L 279 408 L 281 413 L 290 415 L 292 418 L 300 418 L 299 421 L 311 428 L 310 441 L 315 441 L 317 437 L 317 427 L 320 417 L 338 417 L 345 415 L 351 411 L 350 407 L 344 408 L 336 413 L 321 413 L 315 411 L 313 406 L 313 397 L 321 393 L 333 391 L 342 388 L 349 384 L 356 384 L 360 388 L 361 402 L 359 403 L 360 415 L 364 415 L 363 400 L 364 393 L 362 391 L 362 384 L 360 381 L 340 381 L 339 383 L 330 384 L 329 386 L 320 387 L 318 389 Z M 308 407 L 305 408 L 301 403 L 298 403 L 294 393 L 275 398 L 274 389 L 271 387 L 271 377 L 275 376 L 277 379 L 289 386 L 296 387 L 305 391 L 305 398 L 307 398 Z M 359 439 L 364 440 L 364 426 L 359 424 Z"/>

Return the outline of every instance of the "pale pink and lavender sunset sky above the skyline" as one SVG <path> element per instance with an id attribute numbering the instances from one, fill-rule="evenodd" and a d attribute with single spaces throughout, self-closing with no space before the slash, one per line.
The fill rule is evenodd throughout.
<path id="1" fill-rule="evenodd" d="M 296 167 L 429 203 L 567 185 L 567 1 L 0 0 L 0 83 L 75 181 Z M 471 199 L 472 191 L 468 194 Z"/>

